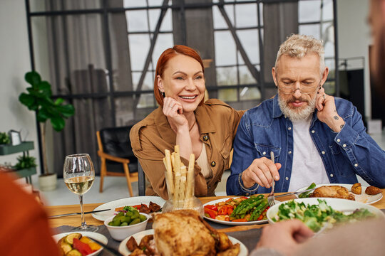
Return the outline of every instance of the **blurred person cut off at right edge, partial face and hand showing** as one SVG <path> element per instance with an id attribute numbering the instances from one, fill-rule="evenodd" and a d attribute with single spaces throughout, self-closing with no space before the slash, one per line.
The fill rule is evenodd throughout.
<path id="1" fill-rule="evenodd" d="M 385 0 L 371 0 L 369 23 L 373 35 L 372 78 L 385 97 Z M 262 255 L 383 255 L 385 220 L 368 220 L 331 230 L 312 238 L 311 230 L 297 220 L 268 225 L 262 231 L 257 249 L 250 256 Z M 309 239 L 312 238 L 312 239 Z M 306 242 L 304 242 L 306 241 Z"/>

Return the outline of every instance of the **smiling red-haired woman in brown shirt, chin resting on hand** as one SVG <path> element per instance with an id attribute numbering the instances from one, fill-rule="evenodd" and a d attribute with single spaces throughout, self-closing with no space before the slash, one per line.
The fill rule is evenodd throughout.
<path id="1" fill-rule="evenodd" d="M 130 132 L 133 152 L 150 186 L 148 196 L 168 198 L 163 157 L 180 145 L 185 166 L 195 154 L 195 196 L 214 196 L 223 171 L 229 168 L 232 142 L 243 111 L 205 97 L 205 69 L 200 55 L 188 46 L 165 50 L 156 65 L 154 95 L 160 107 Z"/>

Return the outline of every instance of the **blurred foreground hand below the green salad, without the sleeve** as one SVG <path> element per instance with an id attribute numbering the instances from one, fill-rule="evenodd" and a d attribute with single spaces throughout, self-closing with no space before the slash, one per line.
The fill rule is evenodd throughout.
<path id="1" fill-rule="evenodd" d="M 262 230 L 256 248 L 265 247 L 277 250 L 283 255 L 292 255 L 302 242 L 314 235 L 301 220 L 284 220 L 267 225 Z"/>

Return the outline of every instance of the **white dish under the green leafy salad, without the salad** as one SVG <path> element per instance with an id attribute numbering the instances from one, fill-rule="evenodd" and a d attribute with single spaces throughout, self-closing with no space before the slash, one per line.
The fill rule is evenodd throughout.
<path id="1" fill-rule="evenodd" d="M 297 203 L 304 202 L 306 205 L 315 205 L 319 204 L 318 199 L 320 198 L 298 198 L 294 199 Z M 347 200 L 347 199 L 341 199 L 341 198 L 322 198 L 321 200 L 326 201 L 327 205 L 332 207 L 334 210 L 341 210 L 345 212 L 353 212 L 356 209 L 359 208 L 365 208 L 368 209 L 371 213 L 374 213 L 379 218 L 385 218 L 385 213 L 383 213 L 381 210 L 374 206 L 369 206 L 365 203 L 359 203 L 357 201 Z M 284 201 L 282 203 L 287 203 L 288 201 Z M 275 204 L 274 206 L 270 207 L 269 210 L 267 210 L 266 216 L 267 220 L 269 220 L 269 223 L 274 223 L 272 221 L 272 218 L 277 216 L 278 208 L 281 203 Z"/>

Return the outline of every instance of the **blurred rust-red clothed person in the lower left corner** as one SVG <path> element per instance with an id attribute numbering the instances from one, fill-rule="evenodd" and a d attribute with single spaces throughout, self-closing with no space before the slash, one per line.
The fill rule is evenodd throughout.
<path id="1" fill-rule="evenodd" d="M 14 178 L 0 171 L 0 255 L 59 255 L 46 212 Z"/>

